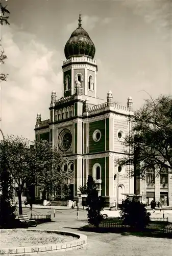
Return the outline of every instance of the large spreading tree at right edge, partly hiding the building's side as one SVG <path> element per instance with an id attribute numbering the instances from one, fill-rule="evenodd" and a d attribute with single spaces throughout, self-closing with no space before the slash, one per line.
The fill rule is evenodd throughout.
<path id="1" fill-rule="evenodd" d="M 157 175 L 162 168 L 172 169 L 172 99 L 160 96 L 145 100 L 144 105 L 135 112 L 132 131 L 126 136 L 124 146 L 126 155 L 117 160 L 119 165 L 135 165 L 131 175 L 145 177 L 146 170 L 155 167 Z M 164 168 L 163 168 L 164 169 Z"/>

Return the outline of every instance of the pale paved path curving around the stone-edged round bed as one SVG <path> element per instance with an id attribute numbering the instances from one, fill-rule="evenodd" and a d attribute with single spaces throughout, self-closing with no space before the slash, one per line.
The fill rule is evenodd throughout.
<path id="1" fill-rule="evenodd" d="M 24 209 L 27 211 L 28 209 Z M 35 209 L 38 211 L 38 209 Z M 49 211 L 49 209 L 39 209 Z M 53 210 L 52 210 L 53 211 Z M 161 213 L 163 215 L 163 212 Z M 167 214 L 167 212 L 166 212 Z M 169 213 L 172 215 L 172 211 Z M 152 217 L 159 217 L 159 213 L 152 213 Z M 79 220 L 76 220 L 75 210 L 61 210 L 55 214 L 55 219 L 50 223 L 44 223 L 30 229 L 56 229 L 73 231 L 86 234 L 88 245 L 81 250 L 53 253 L 38 253 L 38 256 L 171 256 L 172 240 L 166 238 L 138 237 L 118 233 L 98 233 L 79 231 L 78 229 L 87 225 L 87 212 L 79 211 Z"/>

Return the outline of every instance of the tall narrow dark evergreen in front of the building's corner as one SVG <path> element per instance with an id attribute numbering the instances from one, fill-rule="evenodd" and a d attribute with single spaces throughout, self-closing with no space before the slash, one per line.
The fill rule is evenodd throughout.
<path id="1" fill-rule="evenodd" d="M 99 223 L 103 220 L 100 212 L 104 209 L 104 199 L 102 197 L 98 197 L 97 188 L 92 176 L 88 176 L 87 181 L 87 199 L 86 203 L 88 208 L 88 222 L 93 224 L 95 227 L 99 226 Z"/>

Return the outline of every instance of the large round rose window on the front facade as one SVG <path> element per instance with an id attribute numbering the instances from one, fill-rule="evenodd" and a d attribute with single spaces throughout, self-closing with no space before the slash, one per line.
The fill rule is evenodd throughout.
<path id="1" fill-rule="evenodd" d="M 72 136 L 68 129 L 64 129 L 59 134 L 58 145 L 61 151 L 67 151 L 71 146 Z"/>

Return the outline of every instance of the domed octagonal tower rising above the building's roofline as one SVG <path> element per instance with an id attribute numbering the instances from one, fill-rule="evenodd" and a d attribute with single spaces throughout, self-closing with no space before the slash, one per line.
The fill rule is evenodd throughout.
<path id="1" fill-rule="evenodd" d="M 80 14 L 78 28 L 72 32 L 64 48 L 63 97 L 75 94 L 77 81 L 81 83 L 82 94 L 96 97 L 95 46 L 81 21 Z"/>

